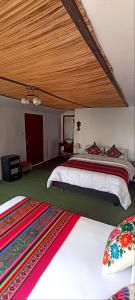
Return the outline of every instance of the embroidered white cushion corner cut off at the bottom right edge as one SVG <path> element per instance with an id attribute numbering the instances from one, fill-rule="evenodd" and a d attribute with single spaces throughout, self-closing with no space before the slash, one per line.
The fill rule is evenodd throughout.
<path id="1" fill-rule="evenodd" d="M 130 284 L 119 290 L 109 300 L 134 300 L 135 299 L 135 284 Z"/>

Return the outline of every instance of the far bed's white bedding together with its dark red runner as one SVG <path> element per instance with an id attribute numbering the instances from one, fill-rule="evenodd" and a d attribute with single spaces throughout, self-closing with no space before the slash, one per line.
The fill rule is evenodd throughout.
<path id="1" fill-rule="evenodd" d="M 135 168 L 128 160 L 83 153 L 73 156 L 69 162 L 52 171 L 47 181 L 48 188 L 53 182 L 67 183 L 111 193 L 117 196 L 124 209 L 130 206 L 128 182 L 135 175 Z"/>

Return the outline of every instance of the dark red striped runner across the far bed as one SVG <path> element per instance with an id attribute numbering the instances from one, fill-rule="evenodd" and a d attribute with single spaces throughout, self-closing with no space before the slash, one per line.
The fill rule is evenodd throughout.
<path id="1" fill-rule="evenodd" d="M 93 163 L 72 159 L 64 162 L 63 164 L 61 164 L 61 166 L 119 176 L 123 178 L 127 184 L 129 181 L 128 171 L 124 168 L 113 165 L 105 165 L 95 162 Z"/>

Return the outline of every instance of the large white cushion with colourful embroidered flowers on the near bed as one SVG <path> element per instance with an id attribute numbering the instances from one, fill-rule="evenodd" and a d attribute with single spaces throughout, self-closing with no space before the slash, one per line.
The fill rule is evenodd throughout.
<path id="1" fill-rule="evenodd" d="M 135 215 L 120 223 L 109 235 L 103 257 L 103 274 L 135 264 Z"/>

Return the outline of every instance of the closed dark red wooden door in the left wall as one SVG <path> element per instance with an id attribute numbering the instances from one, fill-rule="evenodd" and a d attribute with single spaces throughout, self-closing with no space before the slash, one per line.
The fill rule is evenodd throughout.
<path id="1" fill-rule="evenodd" d="M 27 161 L 33 165 L 43 161 L 43 117 L 25 113 Z"/>

